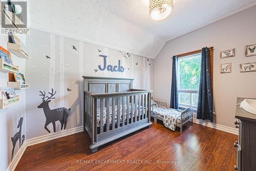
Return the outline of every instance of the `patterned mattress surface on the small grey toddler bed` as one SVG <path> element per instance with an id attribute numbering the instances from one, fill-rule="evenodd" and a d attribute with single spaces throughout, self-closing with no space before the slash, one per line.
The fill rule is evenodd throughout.
<path id="1" fill-rule="evenodd" d="M 176 110 L 176 109 L 172 109 L 172 108 L 167 108 L 166 106 L 160 105 L 160 104 L 155 104 L 152 105 L 153 107 L 153 114 L 154 115 L 158 115 L 160 117 L 164 117 L 164 115 L 177 115 L 180 114 L 181 111 L 180 110 Z M 177 118 L 177 123 L 181 123 L 180 121 L 180 117 Z"/>

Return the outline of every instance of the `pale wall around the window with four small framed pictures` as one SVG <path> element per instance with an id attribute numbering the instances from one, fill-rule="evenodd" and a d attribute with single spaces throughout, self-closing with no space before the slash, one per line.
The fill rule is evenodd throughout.
<path id="1" fill-rule="evenodd" d="M 168 41 L 155 59 L 155 99 L 170 101 L 172 56 L 214 46 L 214 103 L 216 123 L 234 127 L 237 97 L 256 98 L 256 72 L 240 73 L 240 63 L 256 62 L 245 57 L 245 46 L 256 44 L 256 7 L 215 24 Z M 236 49 L 236 56 L 220 59 L 220 52 Z M 232 62 L 232 73 L 220 74 L 221 63 Z"/>

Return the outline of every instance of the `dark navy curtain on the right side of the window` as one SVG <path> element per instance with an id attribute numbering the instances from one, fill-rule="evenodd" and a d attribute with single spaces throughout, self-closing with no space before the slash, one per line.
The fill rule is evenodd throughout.
<path id="1" fill-rule="evenodd" d="M 210 80 L 209 50 L 202 49 L 200 88 L 197 108 L 197 119 L 213 122 L 213 103 Z"/>

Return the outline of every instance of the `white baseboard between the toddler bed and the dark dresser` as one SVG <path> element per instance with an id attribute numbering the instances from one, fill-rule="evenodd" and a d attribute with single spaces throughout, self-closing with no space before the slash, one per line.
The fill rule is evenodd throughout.
<path id="1" fill-rule="evenodd" d="M 228 132 L 228 133 L 231 133 L 231 134 L 238 135 L 238 129 L 234 129 L 232 127 L 223 126 L 223 125 L 219 125 L 219 124 L 211 123 L 211 122 L 206 122 L 206 121 L 196 119 L 196 118 L 193 118 L 193 122 L 204 125 L 204 126 L 211 127 L 213 129 L 217 129 L 217 130 L 221 130 L 221 131 L 225 131 L 225 132 Z"/>

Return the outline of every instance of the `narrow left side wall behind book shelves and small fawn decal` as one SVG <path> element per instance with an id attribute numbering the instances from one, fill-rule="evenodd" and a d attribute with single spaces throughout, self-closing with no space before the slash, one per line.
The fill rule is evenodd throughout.
<path id="1" fill-rule="evenodd" d="M 20 35 L 19 35 L 20 36 Z M 24 36 L 21 36 L 24 41 L 26 40 Z M 0 35 L 0 46 L 7 49 L 8 35 Z M 13 63 L 15 66 L 19 66 L 20 72 L 25 73 L 25 59 L 18 58 L 14 54 L 11 53 Z M 7 87 L 8 82 L 8 73 L 0 72 L 0 87 Z M 22 125 L 22 136 L 25 135 L 26 139 L 26 116 L 25 116 L 25 90 L 16 90 L 16 94 L 19 95 L 20 101 L 19 103 L 10 106 L 4 110 L 0 110 L 0 170 L 6 170 L 11 162 L 12 155 L 12 141 L 11 137 L 13 137 L 19 129 L 17 129 L 17 124 L 20 117 L 23 118 Z M 16 143 L 14 157 L 19 150 L 19 142 Z"/>

